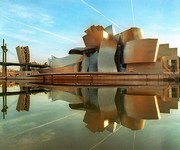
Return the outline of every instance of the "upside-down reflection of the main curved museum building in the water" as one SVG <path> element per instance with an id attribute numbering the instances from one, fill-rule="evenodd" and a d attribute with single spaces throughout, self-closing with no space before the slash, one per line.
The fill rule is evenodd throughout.
<path id="1" fill-rule="evenodd" d="M 179 86 L 53 87 L 52 100 L 66 100 L 71 109 L 84 110 L 83 121 L 92 132 L 114 132 L 121 124 L 131 130 L 145 128 L 146 120 L 178 109 Z"/>

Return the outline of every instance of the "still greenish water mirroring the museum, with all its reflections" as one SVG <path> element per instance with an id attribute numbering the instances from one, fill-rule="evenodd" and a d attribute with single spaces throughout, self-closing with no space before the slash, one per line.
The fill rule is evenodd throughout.
<path id="1" fill-rule="evenodd" d="M 3 82 L 0 108 L 1 150 L 180 149 L 179 85 Z"/>

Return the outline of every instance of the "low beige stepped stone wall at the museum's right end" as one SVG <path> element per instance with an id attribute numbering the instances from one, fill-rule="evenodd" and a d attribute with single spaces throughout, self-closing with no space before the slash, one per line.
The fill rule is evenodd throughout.
<path id="1" fill-rule="evenodd" d="M 140 57 L 143 57 L 143 55 L 140 54 Z M 128 72 L 134 73 L 179 74 L 179 57 L 177 56 L 177 48 L 169 48 L 169 44 L 160 44 L 156 61 L 151 63 L 132 63 L 128 64 L 127 68 Z"/>

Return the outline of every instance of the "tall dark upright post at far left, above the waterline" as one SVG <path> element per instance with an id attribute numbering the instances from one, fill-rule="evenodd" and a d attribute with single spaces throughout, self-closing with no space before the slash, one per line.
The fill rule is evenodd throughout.
<path id="1" fill-rule="evenodd" d="M 7 49 L 7 45 L 5 44 L 4 39 L 3 39 L 3 45 L 1 46 L 1 48 L 3 50 L 2 76 L 6 78 L 7 77 L 7 66 L 5 65 L 5 63 L 7 61 L 7 54 L 6 53 L 7 53 L 8 49 Z"/>

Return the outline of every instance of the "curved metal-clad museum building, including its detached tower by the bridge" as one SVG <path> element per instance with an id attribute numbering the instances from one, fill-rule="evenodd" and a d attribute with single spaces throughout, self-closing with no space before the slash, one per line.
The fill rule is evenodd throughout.
<path id="1" fill-rule="evenodd" d="M 179 74 L 177 48 L 159 44 L 156 38 L 144 38 L 140 28 L 116 34 L 112 25 L 92 25 L 85 30 L 83 41 L 85 47 L 71 49 L 66 57 L 52 56 L 49 67 L 39 73 Z M 17 47 L 17 52 L 20 62 L 26 57 L 29 61 L 27 49 Z"/>

